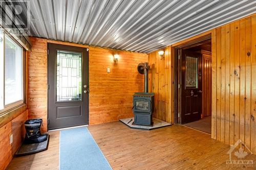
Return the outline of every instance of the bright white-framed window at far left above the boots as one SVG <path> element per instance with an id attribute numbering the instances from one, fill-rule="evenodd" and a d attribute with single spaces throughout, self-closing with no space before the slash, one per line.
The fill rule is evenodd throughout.
<path id="1" fill-rule="evenodd" d="M 0 112 L 24 103 L 23 47 L 0 30 Z"/>

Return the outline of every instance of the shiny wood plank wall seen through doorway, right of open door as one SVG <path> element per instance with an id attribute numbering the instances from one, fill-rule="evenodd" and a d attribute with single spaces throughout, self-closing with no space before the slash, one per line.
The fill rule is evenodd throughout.
<path id="1" fill-rule="evenodd" d="M 211 52 L 201 50 L 203 56 L 202 74 L 202 113 L 203 117 L 211 115 Z"/>

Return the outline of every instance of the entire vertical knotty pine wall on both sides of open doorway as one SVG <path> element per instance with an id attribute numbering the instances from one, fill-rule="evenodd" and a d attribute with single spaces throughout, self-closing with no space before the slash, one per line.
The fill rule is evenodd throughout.
<path id="1" fill-rule="evenodd" d="M 256 14 L 148 54 L 155 117 L 174 123 L 174 46 L 211 34 L 211 137 L 227 144 L 238 139 L 256 153 Z"/>

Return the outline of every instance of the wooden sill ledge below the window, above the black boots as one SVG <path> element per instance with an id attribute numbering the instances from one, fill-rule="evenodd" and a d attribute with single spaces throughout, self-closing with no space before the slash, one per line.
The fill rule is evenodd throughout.
<path id="1" fill-rule="evenodd" d="M 27 110 L 27 104 L 20 104 L 12 109 L 9 109 L 0 115 L 0 128 L 10 122 L 12 119 Z"/>

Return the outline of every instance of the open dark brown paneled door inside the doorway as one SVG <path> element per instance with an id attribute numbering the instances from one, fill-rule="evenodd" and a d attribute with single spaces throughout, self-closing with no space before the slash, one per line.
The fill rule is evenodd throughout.
<path id="1" fill-rule="evenodd" d="M 181 50 L 180 123 L 194 122 L 202 113 L 202 54 Z"/>

